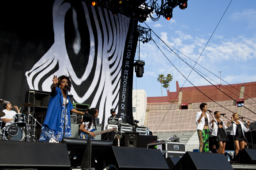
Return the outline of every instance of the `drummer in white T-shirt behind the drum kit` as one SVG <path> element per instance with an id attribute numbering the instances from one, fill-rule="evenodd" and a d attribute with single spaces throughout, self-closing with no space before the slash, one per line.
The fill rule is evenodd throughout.
<path id="1" fill-rule="evenodd" d="M 11 124 L 11 122 L 14 121 L 13 116 L 16 115 L 17 113 L 11 110 L 11 108 L 13 108 L 11 103 L 5 103 L 4 108 L 5 109 L 3 110 L 3 112 L 5 113 L 5 116 L 2 117 L 2 121 L 6 122 L 5 126 L 8 126 L 9 124 Z M 14 108 L 17 110 L 18 113 L 20 113 L 19 108 L 17 106 L 14 106 Z"/>

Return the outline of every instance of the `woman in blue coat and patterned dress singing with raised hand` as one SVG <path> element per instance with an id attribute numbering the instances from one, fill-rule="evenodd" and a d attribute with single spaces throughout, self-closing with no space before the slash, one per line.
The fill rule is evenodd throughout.
<path id="1" fill-rule="evenodd" d="M 70 87 L 71 81 L 68 76 L 63 75 L 57 78 L 56 75 L 53 75 L 51 97 L 49 100 L 45 120 L 41 128 L 41 136 L 39 141 L 58 143 L 62 140 L 64 136 L 65 110 L 65 137 L 70 137 L 72 135 L 70 112 L 84 115 L 84 112 L 79 112 L 78 110 L 74 109 L 69 96 L 66 96 L 66 90 L 70 91 Z"/>

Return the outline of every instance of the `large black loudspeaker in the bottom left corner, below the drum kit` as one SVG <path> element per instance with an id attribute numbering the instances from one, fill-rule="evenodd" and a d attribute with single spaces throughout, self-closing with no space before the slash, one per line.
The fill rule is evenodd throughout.
<path id="1" fill-rule="evenodd" d="M 66 144 L 33 141 L 0 141 L 0 169 L 69 170 Z"/>

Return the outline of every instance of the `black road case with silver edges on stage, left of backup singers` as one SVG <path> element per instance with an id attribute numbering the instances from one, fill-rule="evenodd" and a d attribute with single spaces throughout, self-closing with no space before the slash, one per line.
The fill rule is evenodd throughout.
<path id="1" fill-rule="evenodd" d="M 186 152 L 185 143 L 165 141 L 165 140 L 147 144 L 147 148 L 160 149 L 165 158 L 167 158 L 168 156 L 181 158 Z"/>

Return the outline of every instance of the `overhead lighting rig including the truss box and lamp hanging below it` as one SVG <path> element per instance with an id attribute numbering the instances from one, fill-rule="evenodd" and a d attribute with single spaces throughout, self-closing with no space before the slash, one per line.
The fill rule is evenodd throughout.
<path id="1" fill-rule="evenodd" d="M 163 16 L 166 20 L 173 18 L 173 8 L 179 6 L 184 10 L 188 7 L 188 0 L 83 0 L 89 2 L 92 6 L 109 9 L 115 16 L 117 13 L 123 14 L 130 18 L 138 18 L 139 22 L 144 22 L 150 17 L 153 21 Z M 154 12 L 157 17 L 154 18 Z M 139 42 L 147 43 L 151 40 L 151 29 L 138 25 Z M 135 60 L 135 72 L 137 77 L 142 77 L 144 73 L 145 61 Z"/>

